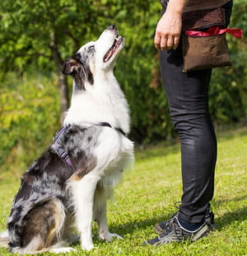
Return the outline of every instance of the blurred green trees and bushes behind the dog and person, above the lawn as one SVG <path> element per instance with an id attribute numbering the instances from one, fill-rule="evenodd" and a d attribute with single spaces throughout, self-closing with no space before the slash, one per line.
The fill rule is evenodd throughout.
<path id="1" fill-rule="evenodd" d="M 247 2 L 235 0 L 227 35 L 232 67 L 214 69 L 209 91 L 217 129 L 245 126 L 247 114 Z M 159 1 L 2 0 L 0 2 L 0 172 L 25 170 L 49 145 L 69 105 L 71 78 L 63 60 L 110 24 L 126 43 L 115 75 L 128 99 L 131 139 L 152 144 L 176 137 L 153 45 Z M 16 167 L 16 168 L 15 168 Z"/>

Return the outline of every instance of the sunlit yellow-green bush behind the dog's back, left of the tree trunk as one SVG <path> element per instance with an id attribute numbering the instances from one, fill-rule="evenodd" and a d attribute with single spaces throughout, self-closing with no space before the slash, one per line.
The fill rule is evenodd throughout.
<path id="1" fill-rule="evenodd" d="M 57 76 L 23 74 L 18 78 L 16 73 L 8 73 L 0 102 L 0 165 L 9 168 L 16 163 L 23 171 L 49 145 L 60 126 Z"/>

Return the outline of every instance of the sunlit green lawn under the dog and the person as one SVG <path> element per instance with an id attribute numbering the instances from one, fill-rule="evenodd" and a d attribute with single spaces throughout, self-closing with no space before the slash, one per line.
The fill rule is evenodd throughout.
<path id="1" fill-rule="evenodd" d="M 77 244 L 77 253 L 68 255 L 247 255 L 247 127 L 218 135 L 215 232 L 193 244 L 142 247 L 145 239 L 155 236 L 153 225 L 175 211 L 182 192 L 179 159 L 178 144 L 137 149 L 133 170 L 125 173 L 108 205 L 110 230 L 123 239 L 104 243 L 94 238 L 96 249 L 84 252 Z M 18 186 L 11 173 L 0 174 L 0 230 L 5 229 Z M 93 232 L 96 235 L 96 225 Z M 0 255 L 11 254 L 0 249 Z"/>

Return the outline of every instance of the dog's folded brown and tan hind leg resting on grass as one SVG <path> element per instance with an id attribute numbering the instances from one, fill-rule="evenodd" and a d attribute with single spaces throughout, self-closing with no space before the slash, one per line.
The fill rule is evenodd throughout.
<path id="1" fill-rule="evenodd" d="M 65 210 L 60 200 L 49 199 L 36 205 L 25 217 L 21 234 L 18 234 L 18 228 L 15 230 L 14 224 L 10 228 L 9 239 L 12 253 L 37 254 L 48 251 L 59 241 L 64 223 Z"/>

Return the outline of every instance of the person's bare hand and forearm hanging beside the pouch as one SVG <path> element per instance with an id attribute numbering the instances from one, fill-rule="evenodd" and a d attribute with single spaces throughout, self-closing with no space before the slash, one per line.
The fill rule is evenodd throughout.
<path id="1" fill-rule="evenodd" d="M 157 49 L 174 50 L 179 45 L 179 36 L 182 29 L 182 13 L 188 0 L 170 0 L 161 20 L 156 26 L 154 44 Z"/>

